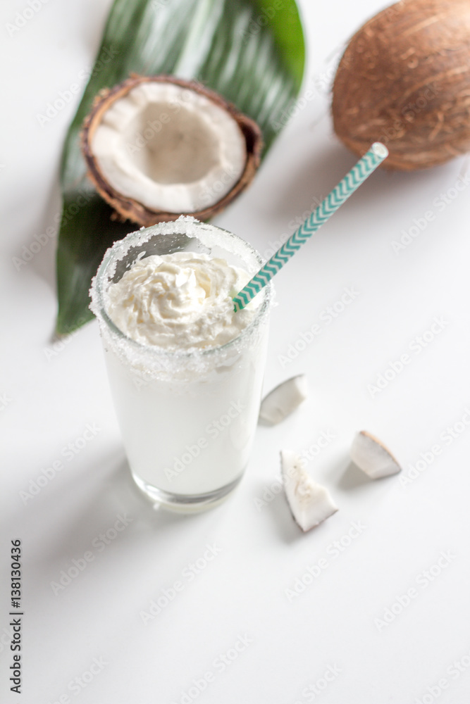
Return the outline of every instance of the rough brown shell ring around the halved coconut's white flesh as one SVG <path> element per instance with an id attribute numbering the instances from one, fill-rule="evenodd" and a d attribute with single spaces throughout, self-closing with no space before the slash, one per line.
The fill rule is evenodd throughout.
<path id="1" fill-rule="evenodd" d="M 97 130 L 104 113 L 106 113 L 111 105 L 116 100 L 128 94 L 130 90 L 144 82 L 172 83 L 206 96 L 206 98 L 227 111 L 240 127 L 245 137 L 247 149 L 245 170 L 228 194 L 223 196 L 223 198 L 214 205 L 204 208 L 204 210 L 197 210 L 191 213 L 167 213 L 163 210 L 151 210 L 151 208 L 147 208 L 147 206 L 144 206 L 137 200 L 126 197 L 117 191 L 101 172 L 99 162 L 97 158 L 95 158 L 91 146 L 94 132 Z M 212 218 L 217 213 L 221 213 L 221 211 L 252 182 L 256 169 L 259 167 L 261 161 L 262 146 L 261 130 L 254 120 L 240 113 L 235 106 L 225 101 L 218 93 L 202 86 L 202 84 L 168 75 L 140 76 L 132 74 L 128 79 L 113 88 L 100 91 L 94 100 L 92 111 L 87 115 L 87 118 L 85 118 L 81 134 L 82 153 L 87 163 L 88 177 L 94 184 L 94 187 L 102 198 L 116 210 L 116 218 L 120 220 L 132 220 L 132 222 L 137 222 L 139 225 L 144 225 L 144 227 L 155 225 L 156 222 L 176 220 L 180 215 L 194 215 L 194 218 L 198 220 L 209 220 L 209 218 Z"/>

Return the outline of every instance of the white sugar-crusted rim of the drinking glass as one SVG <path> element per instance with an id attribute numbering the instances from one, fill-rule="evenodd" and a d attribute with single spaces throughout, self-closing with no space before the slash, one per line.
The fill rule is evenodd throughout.
<path id="1" fill-rule="evenodd" d="M 222 235 L 222 237 L 227 238 L 229 241 L 230 239 L 233 239 L 237 242 L 240 242 L 242 244 L 242 249 L 245 250 L 246 253 L 251 254 L 254 256 L 256 259 L 257 263 L 259 264 L 259 268 L 264 264 L 264 259 L 261 257 L 261 254 L 252 247 L 251 244 L 249 244 L 245 239 L 242 239 L 241 237 L 238 237 L 237 234 L 233 234 L 233 232 L 229 232 L 228 230 L 223 230 L 222 227 L 218 227 L 217 225 L 211 225 L 208 222 L 200 222 L 199 220 L 196 220 L 195 218 L 192 218 L 191 216 L 185 217 L 182 216 L 181 218 L 178 218 L 180 220 L 180 224 L 182 222 L 188 222 L 191 225 L 194 225 L 195 227 L 200 227 L 204 230 L 211 230 L 214 232 L 218 232 L 219 234 Z M 104 254 L 104 258 L 101 261 L 101 264 L 99 265 L 99 268 L 97 270 L 97 274 L 94 277 L 94 280 L 92 282 L 92 289 L 91 289 L 91 295 L 92 295 L 92 301 L 96 299 L 97 303 L 97 308 L 99 311 L 99 315 L 97 317 L 101 320 L 99 322 L 101 323 L 104 322 L 107 327 L 111 330 L 111 332 L 116 335 L 116 337 L 120 338 L 121 340 L 125 341 L 126 344 L 129 344 L 131 348 L 135 348 L 136 351 L 138 351 L 140 354 L 149 354 L 153 357 L 165 357 L 165 358 L 181 358 L 181 359 L 187 359 L 187 358 L 197 358 L 197 357 L 206 357 L 210 356 L 211 354 L 218 353 L 220 351 L 225 351 L 229 350 L 230 347 L 237 346 L 242 342 L 245 337 L 248 337 L 249 334 L 252 333 L 256 327 L 261 323 L 261 320 L 264 319 L 265 314 L 271 304 L 271 298 L 272 298 L 272 293 L 273 293 L 273 288 L 271 285 L 271 282 L 269 282 L 261 291 L 259 291 L 259 294 L 257 296 L 263 296 L 264 300 L 261 303 L 261 305 L 256 309 L 256 315 L 254 315 L 254 318 L 247 327 L 242 329 L 240 334 L 237 335 L 237 337 L 234 337 L 233 339 L 229 340 L 228 342 L 225 342 L 223 345 L 218 345 L 216 347 L 209 347 L 209 348 L 192 348 L 189 351 L 188 350 L 167 350 L 163 347 L 158 347 L 156 345 L 144 345 L 140 342 L 137 342 L 136 340 L 133 340 L 131 337 L 128 337 L 123 331 L 117 327 L 117 325 L 109 318 L 108 313 L 106 312 L 106 306 L 104 303 L 104 281 L 106 280 L 106 274 L 113 265 L 115 261 L 122 260 L 124 256 L 128 253 L 129 249 L 132 248 L 133 243 L 136 243 L 136 246 L 142 245 L 145 246 L 146 243 L 148 243 L 151 238 L 154 235 L 157 234 L 166 234 L 165 230 L 168 230 L 168 225 L 174 226 L 174 230 L 172 233 L 168 232 L 168 234 L 187 234 L 186 232 L 182 232 L 181 228 L 178 227 L 178 220 L 175 220 L 171 223 L 168 222 L 160 222 L 157 225 L 151 225 L 150 227 L 142 227 L 141 230 L 137 230 L 135 232 L 130 232 L 127 234 L 123 239 L 120 239 L 116 241 L 113 246 L 111 246 L 108 250 L 106 250 L 106 253 Z M 163 227 L 165 226 L 165 227 Z M 142 241 L 142 238 L 145 237 L 147 232 L 150 232 L 149 237 L 147 240 Z M 190 233 L 192 234 L 192 233 Z M 123 244 L 127 244 L 127 248 L 123 251 Z M 204 242 L 202 242 L 204 244 Z M 221 246 L 223 249 L 226 249 L 230 253 L 230 249 L 228 249 L 225 243 L 220 243 L 218 246 Z M 209 245 L 207 245 L 209 246 Z M 116 256 L 116 253 L 122 253 L 122 256 L 118 259 Z M 235 256 L 237 256 L 237 251 L 233 251 L 231 253 L 234 253 Z M 241 254 L 238 256 L 242 256 Z M 256 273 L 256 272 L 254 272 Z M 254 274 L 253 274 L 254 275 Z M 97 312 L 97 311 L 95 311 Z"/>

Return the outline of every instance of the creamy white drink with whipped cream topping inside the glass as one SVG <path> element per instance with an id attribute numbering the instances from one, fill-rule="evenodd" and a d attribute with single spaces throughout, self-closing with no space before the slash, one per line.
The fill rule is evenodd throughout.
<path id="1" fill-rule="evenodd" d="M 151 256 L 109 289 L 108 314 L 125 334 L 156 350 L 216 348 L 240 335 L 256 303 L 237 313 L 232 296 L 250 276 L 200 253 Z M 132 472 L 168 494 L 206 494 L 240 477 L 259 414 L 267 324 L 256 344 L 234 348 L 203 375 L 135 375 L 106 351 L 111 389 Z M 185 365 L 187 362 L 185 362 Z"/>

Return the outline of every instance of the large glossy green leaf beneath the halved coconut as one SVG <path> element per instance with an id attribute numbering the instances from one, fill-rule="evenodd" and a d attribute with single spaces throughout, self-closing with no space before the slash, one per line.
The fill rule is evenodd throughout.
<path id="1" fill-rule="evenodd" d="M 97 61 L 64 146 L 57 332 L 92 318 L 88 289 L 111 244 L 136 229 L 87 180 L 82 122 L 94 97 L 130 73 L 168 73 L 216 90 L 258 122 L 265 152 L 299 92 L 304 37 L 295 0 L 115 0 Z"/>

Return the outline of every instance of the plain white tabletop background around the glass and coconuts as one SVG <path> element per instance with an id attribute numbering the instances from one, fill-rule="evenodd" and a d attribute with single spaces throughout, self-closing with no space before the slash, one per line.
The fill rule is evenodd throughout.
<path id="1" fill-rule="evenodd" d="M 51 354 L 55 242 L 19 271 L 13 264 L 60 210 L 59 158 L 79 96 L 43 127 L 37 114 L 92 65 L 110 5 L 49 0 L 13 37 L 5 25 L 27 5 L 8 0 L 1 8 L 2 701 L 463 704 L 470 694 L 470 427 L 459 420 L 470 407 L 470 190 L 439 203 L 440 194 L 457 193 L 470 165 L 457 158 L 414 174 L 376 172 L 280 272 L 266 390 L 304 372 L 308 401 L 282 425 L 259 427 L 245 479 L 225 504 L 194 517 L 155 512 L 128 474 L 96 323 Z M 379 0 L 300 5 L 309 40 L 304 90 L 314 97 L 249 192 L 216 220 L 261 252 L 355 161 L 332 130 L 331 60 L 383 7 Z M 392 242 L 427 211 L 432 222 L 395 252 Z M 345 287 L 356 298 L 330 325 L 322 322 Z M 413 341 L 435 316 L 445 327 L 418 353 Z M 290 345 L 316 322 L 321 334 L 286 363 Z M 374 391 L 378 375 L 405 353 L 409 364 Z M 62 448 L 87 424 L 99 432 L 68 462 Z M 455 437 L 446 430 L 453 426 Z M 350 466 L 360 429 L 390 446 L 401 478 L 370 482 Z M 271 484 L 278 488 L 280 448 L 303 451 L 322 432 L 334 439 L 308 469 L 340 510 L 302 534 L 282 495 L 264 506 L 255 500 L 269 498 Z M 20 492 L 61 458 L 64 469 L 24 503 Z M 403 482 L 420 459 L 422 471 Z M 132 519 L 128 527 L 103 551 L 92 548 L 118 515 Z M 365 528 L 351 541 L 352 522 Z M 8 689 L 5 630 L 9 540 L 16 538 L 24 555 L 21 696 Z M 336 555 L 331 544 L 341 540 Z M 194 579 L 184 577 L 209 544 L 220 554 Z M 90 550 L 94 560 L 54 594 L 51 582 Z M 449 558 L 429 582 L 423 574 L 442 552 Z M 328 566 L 307 576 L 303 593 L 286 591 L 300 590 L 298 580 L 321 558 Z M 144 625 L 141 612 L 178 580 L 183 591 Z M 410 589 L 414 598 L 400 612 L 397 598 Z M 252 642 L 222 672 L 221 655 L 240 646 L 240 636 Z M 89 681 L 94 658 L 101 671 L 95 664 Z M 206 672 L 214 681 L 198 695 L 190 688 Z"/>

